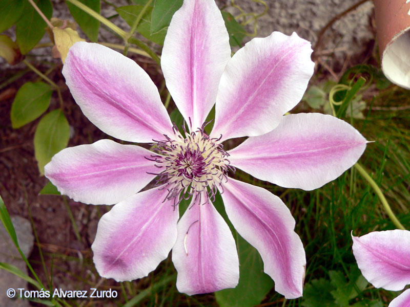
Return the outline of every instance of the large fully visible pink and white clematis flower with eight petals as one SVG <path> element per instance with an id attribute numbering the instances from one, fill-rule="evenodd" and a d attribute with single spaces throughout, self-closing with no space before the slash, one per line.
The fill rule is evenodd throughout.
<path id="1" fill-rule="evenodd" d="M 161 68 L 189 131 L 173 126 L 158 91 L 133 60 L 77 42 L 63 74 L 83 113 L 121 140 L 66 148 L 45 167 L 62 194 L 116 204 L 92 245 L 98 273 L 117 281 L 147 276 L 172 249 L 177 288 L 189 295 L 235 287 L 239 261 L 228 225 L 214 208 L 217 191 L 237 232 L 253 245 L 275 289 L 302 295 L 305 253 L 295 220 L 269 191 L 228 177 L 240 168 L 257 179 L 311 190 L 337 178 L 361 156 L 366 140 L 322 114 L 283 116 L 313 74 L 308 41 L 295 33 L 254 38 L 231 58 L 228 32 L 213 1 L 185 0 L 165 38 Z M 216 103 L 208 136 L 203 122 Z M 222 142 L 249 137 L 226 151 Z M 139 192 L 152 180 L 156 187 Z M 178 203 L 192 196 L 178 221 Z"/>

